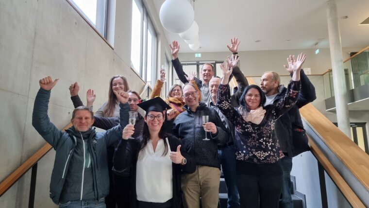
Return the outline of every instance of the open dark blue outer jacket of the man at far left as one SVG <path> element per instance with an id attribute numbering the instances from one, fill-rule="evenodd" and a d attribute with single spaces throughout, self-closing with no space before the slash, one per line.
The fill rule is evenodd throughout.
<path id="1" fill-rule="evenodd" d="M 55 204 L 59 204 L 65 178 L 68 177 L 67 170 L 70 156 L 73 155 L 77 142 L 71 135 L 73 131 L 62 132 L 50 122 L 48 116 L 49 99 L 50 91 L 40 88 L 34 101 L 32 125 L 56 151 L 51 173 L 50 198 Z M 120 125 L 105 132 L 94 132 L 95 136 L 89 140 L 89 148 L 92 150 L 91 161 L 95 199 L 104 198 L 109 193 L 106 147 L 122 138 L 123 128 L 121 126 L 128 124 L 129 109 L 129 104 L 120 104 Z"/>

